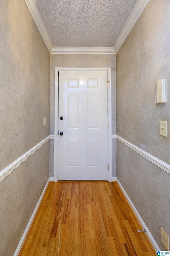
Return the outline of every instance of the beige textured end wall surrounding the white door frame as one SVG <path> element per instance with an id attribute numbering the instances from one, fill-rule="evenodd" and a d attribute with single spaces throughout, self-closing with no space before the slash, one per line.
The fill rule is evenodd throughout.
<path id="1" fill-rule="evenodd" d="M 112 68 L 112 134 L 116 134 L 116 55 L 51 54 L 50 58 L 50 135 L 54 135 L 54 68 Z M 50 177 L 54 177 L 54 140 L 50 140 Z M 112 176 L 116 176 L 116 141 L 112 139 Z"/>

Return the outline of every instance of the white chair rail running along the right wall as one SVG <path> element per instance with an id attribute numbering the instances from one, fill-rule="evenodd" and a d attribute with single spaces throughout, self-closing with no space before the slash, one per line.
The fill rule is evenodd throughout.
<path id="1" fill-rule="evenodd" d="M 142 149 L 140 149 L 137 146 L 133 145 L 129 141 L 124 140 L 123 138 L 119 137 L 118 135 L 116 135 L 116 139 L 121 141 L 122 143 L 124 143 L 129 148 L 133 149 L 135 152 L 137 152 L 141 156 L 145 157 L 150 162 L 154 163 L 154 165 L 158 166 L 160 169 L 162 169 L 162 170 L 164 170 L 164 171 L 166 171 L 167 173 L 170 174 L 170 165 L 168 165 L 167 163 L 165 163 L 165 162 L 161 161 L 160 159 L 152 156 L 151 154 L 143 151 Z"/>

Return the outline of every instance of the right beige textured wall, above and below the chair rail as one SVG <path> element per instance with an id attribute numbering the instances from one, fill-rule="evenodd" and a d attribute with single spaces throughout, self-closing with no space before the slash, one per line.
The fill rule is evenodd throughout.
<path id="1" fill-rule="evenodd" d="M 150 0 L 116 56 L 117 135 L 170 164 L 170 1 Z M 154 83 L 167 82 L 167 103 L 155 104 Z M 168 138 L 159 135 L 168 121 Z M 161 225 L 170 235 L 170 176 L 117 143 L 117 177 L 160 248 Z M 139 160 L 138 160 L 139 159 Z M 146 163 L 147 162 L 147 163 Z M 158 184 L 161 186 L 158 187 Z M 168 186 L 168 187 L 167 187 Z M 161 191 L 160 191 L 161 190 Z M 167 193 L 167 194 L 166 194 Z M 164 197 L 167 196 L 165 200 Z M 152 208 L 152 209 L 151 209 Z"/>

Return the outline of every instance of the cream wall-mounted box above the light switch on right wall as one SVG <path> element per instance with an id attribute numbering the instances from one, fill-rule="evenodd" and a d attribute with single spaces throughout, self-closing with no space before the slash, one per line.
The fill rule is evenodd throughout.
<path id="1" fill-rule="evenodd" d="M 167 102 L 165 79 L 155 82 L 155 103 Z"/>

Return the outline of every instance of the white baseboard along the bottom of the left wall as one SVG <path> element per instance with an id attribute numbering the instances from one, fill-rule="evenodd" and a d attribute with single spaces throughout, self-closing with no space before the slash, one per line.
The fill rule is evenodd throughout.
<path id="1" fill-rule="evenodd" d="M 38 210 L 38 208 L 39 208 L 39 206 L 40 206 L 41 200 L 43 199 L 44 193 L 45 193 L 45 191 L 46 191 L 46 188 L 48 187 L 49 182 L 50 182 L 50 178 L 48 179 L 48 181 L 47 181 L 47 183 L 46 183 L 46 185 L 45 185 L 45 188 L 44 188 L 44 190 L 43 190 L 43 192 L 42 192 L 42 194 L 41 194 L 41 196 L 40 196 L 40 199 L 39 199 L 39 201 L 38 201 L 38 203 L 37 203 L 37 205 L 36 205 L 36 207 L 35 207 L 35 210 L 34 210 L 33 213 L 32 213 L 31 219 L 29 220 L 28 225 L 27 225 L 27 227 L 26 227 L 26 229 L 25 229 L 25 231 L 24 231 L 24 234 L 23 234 L 23 236 L 22 236 L 22 238 L 21 238 L 21 240 L 20 240 L 20 242 L 19 242 L 19 245 L 18 245 L 18 247 L 16 248 L 16 251 L 15 251 L 15 253 L 14 253 L 14 256 L 18 256 L 19 253 L 20 253 L 20 250 L 21 250 L 21 248 L 22 248 L 22 246 L 23 246 L 23 243 L 24 243 L 25 238 L 26 238 L 26 236 L 27 236 L 27 234 L 28 234 L 29 228 L 31 227 L 31 224 L 32 224 L 32 222 L 33 222 L 33 220 L 34 220 L 34 217 L 35 217 L 36 212 L 37 212 L 37 210 Z"/>

